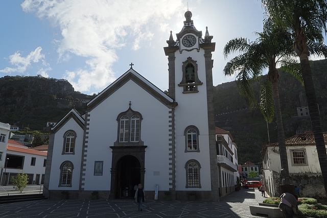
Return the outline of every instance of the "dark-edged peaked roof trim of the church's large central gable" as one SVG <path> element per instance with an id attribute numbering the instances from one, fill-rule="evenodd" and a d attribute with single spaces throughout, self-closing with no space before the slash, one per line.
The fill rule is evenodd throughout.
<path id="1" fill-rule="evenodd" d="M 154 98 L 156 98 L 159 102 L 166 105 L 168 108 L 174 108 L 177 106 L 177 103 L 174 102 L 170 96 L 161 91 L 158 87 L 153 85 L 150 81 L 145 79 L 143 76 L 138 74 L 134 69 L 130 68 L 124 75 L 118 78 L 116 81 L 111 83 L 107 88 L 105 88 L 102 92 L 100 92 L 94 99 L 92 99 L 87 104 L 87 110 L 92 110 L 97 107 L 101 102 L 107 99 L 112 93 L 116 90 L 120 89 L 124 84 L 128 81 L 132 80 L 138 86 L 142 87 L 148 93 L 150 93 Z"/>

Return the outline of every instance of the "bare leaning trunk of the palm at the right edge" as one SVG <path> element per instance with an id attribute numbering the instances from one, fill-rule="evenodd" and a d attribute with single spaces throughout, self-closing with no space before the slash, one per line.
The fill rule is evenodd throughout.
<path id="1" fill-rule="evenodd" d="M 313 134 L 315 137 L 316 148 L 318 152 L 318 159 L 321 168 L 321 174 L 325 191 L 327 193 L 327 155 L 326 147 L 322 133 L 321 120 L 319 116 L 319 106 L 316 98 L 316 92 L 312 79 L 312 71 L 309 63 L 308 55 L 305 53 L 300 54 L 300 63 L 302 69 L 303 82 L 305 84 L 306 97 L 309 106 L 309 113 Z"/>

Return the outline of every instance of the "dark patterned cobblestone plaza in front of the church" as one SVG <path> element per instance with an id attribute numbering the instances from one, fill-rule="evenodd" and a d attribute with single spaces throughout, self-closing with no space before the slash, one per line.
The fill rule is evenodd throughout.
<path id="1" fill-rule="evenodd" d="M 250 205 L 264 200 L 258 189 L 241 189 L 208 201 L 146 200 L 143 211 L 133 199 L 126 200 L 39 200 L 0 204 L 0 217 L 260 217 Z"/>

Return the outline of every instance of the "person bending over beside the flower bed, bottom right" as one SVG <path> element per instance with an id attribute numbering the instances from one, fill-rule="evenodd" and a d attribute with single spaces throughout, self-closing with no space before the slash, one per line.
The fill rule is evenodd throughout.
<path id="1" fill-rule="evenodd" d="M 281 203 L 279 209 L 283 211 L 286 218 L 293 218 L 293 214 L 297 214 L 297 195 L 285 192 L 281 195 Z"/>

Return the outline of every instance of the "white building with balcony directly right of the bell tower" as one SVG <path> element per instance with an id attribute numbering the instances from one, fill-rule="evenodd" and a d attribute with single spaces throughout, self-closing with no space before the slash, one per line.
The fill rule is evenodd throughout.
<path id="1" fill-rule="evenodd" d="M 224 197 L 235 190 L 240 180 L 238 172 L 237 145 L 232 142 L 229 131 L 216 127 L 219 196 Z"/>

